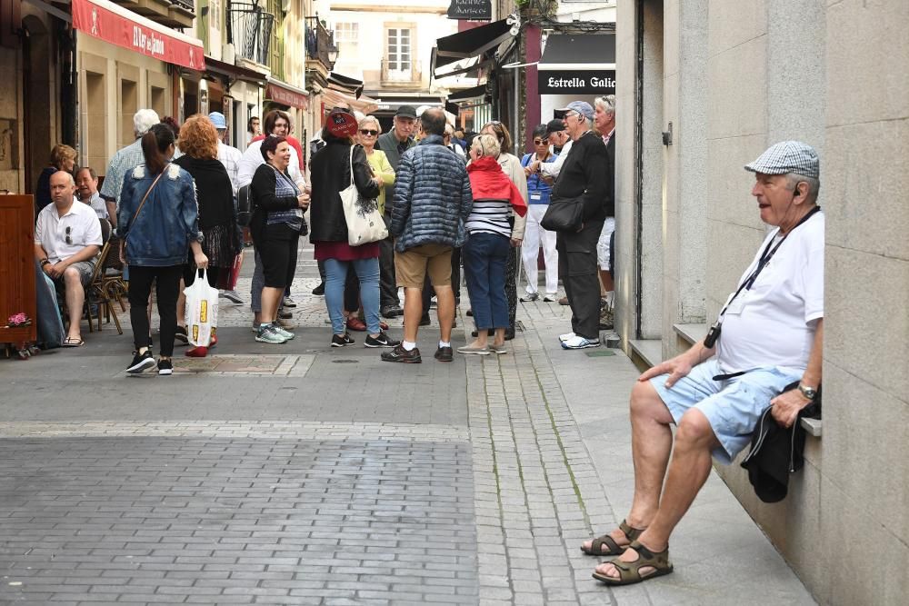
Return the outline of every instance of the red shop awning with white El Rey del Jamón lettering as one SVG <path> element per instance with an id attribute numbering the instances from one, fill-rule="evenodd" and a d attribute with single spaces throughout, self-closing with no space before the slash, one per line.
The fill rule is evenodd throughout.
<path id="1" fill-rule="evenodd" d="M 205 71 L 205 46 L 108 0 L 73 0 L 75 29 L 166 63 Z"/>

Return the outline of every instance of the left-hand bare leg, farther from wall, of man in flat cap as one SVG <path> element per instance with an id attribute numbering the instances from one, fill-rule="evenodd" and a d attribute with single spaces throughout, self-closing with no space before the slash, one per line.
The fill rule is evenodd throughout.
<path id="1" fill-rule="evenodd" d="M 666 474 L 669 454 L 673 449 L 673 416 L 650 382 L 636 382 L 629 404 L 632 428 L 632 458 L 634 460 L 634 501 L 625 522 L 632 528 L 646 528 L 660 506 L 660 491 Z M 619 545 L 628 537 L 615 529 L 609 533 Z M 584 542 L 590 549 L 593 541 Z"/>

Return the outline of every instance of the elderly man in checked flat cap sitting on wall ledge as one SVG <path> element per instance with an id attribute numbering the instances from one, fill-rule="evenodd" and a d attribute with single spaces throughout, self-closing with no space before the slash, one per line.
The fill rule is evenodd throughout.
<path id="1" fill-rule="evenodd" d="M 590 555 L 618 556 L 596 568 L 599 581 L 625 585 L 672 572 L 669 537 L 704 486 L 711 454 L 732 462 L 767 407 L 776 422 L 791 426 L 821 383 L 824 214 L 816 205 L 817 154 L 786 141 L 745 169 L 755 176 L 751 194 L 761 220 L 778 229 L 764 239 L 707 337 L 635 383 L 631 512 L 619 528 L 581 546 Z M 792 382 L 798 389 L 781 393 Z"/>

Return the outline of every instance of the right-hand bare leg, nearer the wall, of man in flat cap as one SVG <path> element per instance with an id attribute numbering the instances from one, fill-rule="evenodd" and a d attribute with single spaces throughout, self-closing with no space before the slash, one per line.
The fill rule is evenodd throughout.
<path id="1" fill-rule="evenodd" d="M 664 551 L 668 546 L 675 525 L 682 520 L 710 475 L 710 452 L 718 445 L 703 412 L 691 409 L 684 413 L 675 435 L 675 450 L 666 475 L 663 499 L 647 530 L 637 539 L 650 551 Z M 626 549 L 619 556 L 621 561 L 635 561 L 637 558 L 638 553 L 633 549 Z M 619 578 L 618 570 L 609 562 L 597 566 L 596 571 L 613 579 Z M 645 577 L 653 571 L 653 567 L 644 566 L 640 572 Z"/>

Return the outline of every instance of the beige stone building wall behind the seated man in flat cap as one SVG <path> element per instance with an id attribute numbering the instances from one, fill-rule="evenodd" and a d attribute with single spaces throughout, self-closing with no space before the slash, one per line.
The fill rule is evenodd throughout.
<path id="1" fill-rule="evenodd" d="M 719 471 L 822 603 L 909 595 L 907 26 L 893 1 L 618 3 L 617 80 L 641 84 L 617 94 L 629 351 L 650 339 L 673 355 L 680 325 L 703 331 L 734 290 L 766 233 L 743 164 L 784 139 L 821 155 L 823 435 L 784 502 L 759 502 L 737 465 Z"/>

